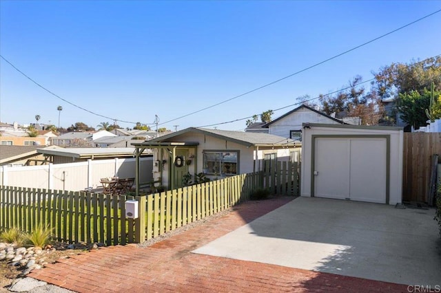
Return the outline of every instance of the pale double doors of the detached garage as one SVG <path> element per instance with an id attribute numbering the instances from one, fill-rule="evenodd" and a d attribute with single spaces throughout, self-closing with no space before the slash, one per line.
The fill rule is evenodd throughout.
<path id="1" fill-rule="evenodd" d="M 386 203 L 386 138 L 316 138 L 314 195 Z"/>

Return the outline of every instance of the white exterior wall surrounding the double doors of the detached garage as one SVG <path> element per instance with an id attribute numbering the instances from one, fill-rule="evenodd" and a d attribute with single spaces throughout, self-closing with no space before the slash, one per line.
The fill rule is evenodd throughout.
<path id="1" fill-rule="evenodd" d="M 300 195 L 305 197 L 311 197 L 312 135 L 390 135 L 389 204 L 394 205 L 402 202 L 403 131 L 401 128 L 383 127 L 381 129 L 380 127 L 367 128 L 338 125 L 338 127 L 311 126 L 310 129 L 303 129 Z M 366 178 L 366 180 L 369 182 L 369 178 Z"/>

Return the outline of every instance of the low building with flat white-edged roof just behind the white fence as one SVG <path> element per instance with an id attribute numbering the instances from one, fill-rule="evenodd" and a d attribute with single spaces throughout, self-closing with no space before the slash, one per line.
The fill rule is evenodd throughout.
<path id="1" fill-rule="evenodd" d="M 114 158 L 134 158 L 134 149 L 129 148 L 69 148 L 69 149 L 38 149 L 53 164 L 85 162 L 87 160 L 107 160 Z M 152 156 L 151 151 L 144 151 L 141 157 Z"/>

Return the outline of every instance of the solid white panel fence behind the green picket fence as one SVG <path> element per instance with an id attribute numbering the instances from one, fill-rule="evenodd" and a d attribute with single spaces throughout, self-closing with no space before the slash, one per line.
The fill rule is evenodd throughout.
<path id="1" fill-rule="evenodd" d="M 135 177 L 135 165 L 134 158 L 115 158 L 43 166 L 1 166 L 0 186 L 84 191 L 86 188 L 99 188 L 104 177 Z M 153 158 L 141 158 L 141 183 L 153 180 L 152 170 Z"/>

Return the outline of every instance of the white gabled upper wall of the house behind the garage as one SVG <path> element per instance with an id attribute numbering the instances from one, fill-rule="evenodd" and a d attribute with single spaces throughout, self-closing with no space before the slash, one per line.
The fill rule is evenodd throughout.
<path id="1" fill-rule="evenodd" d="M 340 124 L 309 109 L 298 109 L 284 118 L 269 124 L 269 134 L 289 138 L 289 131 L 302 129 L 302 123 Z"/>

